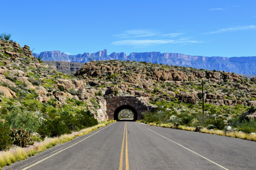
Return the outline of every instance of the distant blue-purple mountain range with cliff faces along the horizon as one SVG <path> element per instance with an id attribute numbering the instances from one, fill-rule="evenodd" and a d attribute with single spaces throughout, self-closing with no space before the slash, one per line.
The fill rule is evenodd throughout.
<path id="1" fill-rule="evenodd" d="M 67 55 L 61 51 L 45 51 L 40 54 L 33 53 L 35 57 L 42 56 L 44 61 L 65 61 L 86 63 L 90 60 L 104 61 L 110 59 L 143 61 L 151 63 L 162 63 L 177 66 L 193 67 L 196 69 L 218 70 L 234 72 L 238 74 L 256 75 L 256 56 L 252 57 L 204 57 L 190 56 L 178 53 L 161 52 L 133 52 L 126 55 L 124 52 L 113 52 L 108 55 L 107 50 L 95 53 L 83 53 L 78 55 Z"/>

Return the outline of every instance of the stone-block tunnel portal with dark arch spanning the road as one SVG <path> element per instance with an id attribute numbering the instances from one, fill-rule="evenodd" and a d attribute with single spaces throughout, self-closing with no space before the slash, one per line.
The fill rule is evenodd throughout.
<path id="1" fill-rule="evenodd" d="M 142 112 L 153 111 L 154 106 L 147 105 L 143 100 L 135 96 L 114 96 L 107 101 L 107 115 L 108 119 L 118 120 L 118 114 L 123 109 L 129 109 L 133 112 L 133 120 L 141 120 Z"/>

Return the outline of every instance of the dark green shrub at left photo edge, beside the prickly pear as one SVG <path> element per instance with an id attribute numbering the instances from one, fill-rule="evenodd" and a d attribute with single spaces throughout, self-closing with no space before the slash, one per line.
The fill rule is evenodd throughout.
<path id="1" fill-rule="evenodd" d="M 0 150 L 9 150 L 9 146 L 13 143 L 10 133 L 8 124 L 0 122 Z"/>

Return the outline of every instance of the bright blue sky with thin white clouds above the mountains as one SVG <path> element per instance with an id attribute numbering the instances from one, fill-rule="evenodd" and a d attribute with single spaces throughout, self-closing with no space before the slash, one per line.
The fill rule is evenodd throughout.
<path id="1" fill-rule="evenodd" d="M 255 0 L 1 1 L 0 33 L 67 54 L 256 56 Z"/>

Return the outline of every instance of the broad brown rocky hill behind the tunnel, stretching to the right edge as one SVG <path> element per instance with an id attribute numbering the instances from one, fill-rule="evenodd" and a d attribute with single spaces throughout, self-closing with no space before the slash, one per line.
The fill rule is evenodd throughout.
<path id="1" fill-rule="evenodd" d="M 215 106 L 256 106 L 255 78 L 235 73 L 197 70 L 172 65 L 131 61 L 88 62 L 75 74 L 91 87 L 102 88 L 103 95 L 120 94 L 146 101 L 181 101 L 198 104 L 204 99 Z"/>

